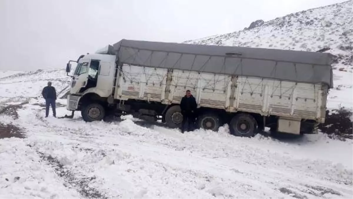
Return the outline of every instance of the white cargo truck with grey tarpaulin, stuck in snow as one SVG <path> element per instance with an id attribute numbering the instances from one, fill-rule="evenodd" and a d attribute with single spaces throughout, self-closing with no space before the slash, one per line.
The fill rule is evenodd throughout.
<path id="1" fill-rule="evenodd" d="M 190 90 L 197 128 L 228 124 L 245 137 L 265 127 L 317 133 L 333 87 L 329 53 L 125 39 L 70 60 L 66 72 L 67 110 L 81 111 L 86 122 L 132 115 L 179 128 L 180 101 Z"/>

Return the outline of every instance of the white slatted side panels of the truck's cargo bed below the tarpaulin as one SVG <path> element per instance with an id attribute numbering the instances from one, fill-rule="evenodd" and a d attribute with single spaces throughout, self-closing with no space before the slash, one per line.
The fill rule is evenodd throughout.
<path id="1" fill-rule="evenodd" d="M 124 65 L 116 99 L 179 104 L 191 90 L 199 107 L 291 118 L 324 118 L 327 84 Z"/>

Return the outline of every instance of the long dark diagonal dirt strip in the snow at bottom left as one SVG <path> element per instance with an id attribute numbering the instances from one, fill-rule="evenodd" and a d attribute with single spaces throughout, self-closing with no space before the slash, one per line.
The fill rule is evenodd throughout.
<path id="1" fill-rule="evenodd" d="M 32 147 L 29 145 L 29 147 Z M 101 193 L 94 187 L 90 186 L 90 182 L 96 179 L 95 176 L 77 178 L 75 174 L 69 169 L 65 168 L 57 158 L 54 158 L 48 154 L 44 154 L 37 151 L 39 156 L 46 161 L 49 165 L 52 165 L 58 176 L 64 178 L 68 184 L 64 184 L 65 187 L 74 187 L 76 190 L 85 198 L 107 198 L 106 194 Z"/>

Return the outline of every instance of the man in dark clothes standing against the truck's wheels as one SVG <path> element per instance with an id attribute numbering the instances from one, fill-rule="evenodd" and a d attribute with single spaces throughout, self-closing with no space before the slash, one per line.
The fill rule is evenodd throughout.
<path id="1" fill-rule="evenodd" d="M 185 123 L 187 122 L 187 130 L 192 131 L 195 123 L 197 103 L 191 95 L 190 90 L 186 91 L 186 95 L 180 101 L 181 114 L 183 114 L 183 122 L 181 122 L 181 133 L 184 133 Z"/>

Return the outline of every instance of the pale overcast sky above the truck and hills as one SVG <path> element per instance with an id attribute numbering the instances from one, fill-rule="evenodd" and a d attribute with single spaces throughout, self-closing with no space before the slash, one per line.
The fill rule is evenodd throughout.
<path id="1" fill-rule="evenodd" d="M 0 0 L 0 70 L 62 68 L 121 39 L 183 42 L 345 0 Z"/>

